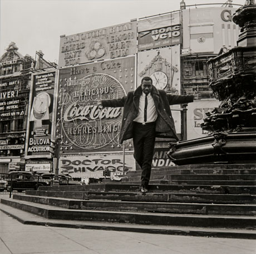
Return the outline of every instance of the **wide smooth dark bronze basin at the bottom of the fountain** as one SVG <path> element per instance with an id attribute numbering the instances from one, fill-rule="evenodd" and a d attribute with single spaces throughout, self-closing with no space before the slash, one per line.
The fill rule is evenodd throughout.
<path id="1" fill-rule="evenodd" d="M 214 133 L 170 144 L 168 156 L 176 165 L 256 163 L 256 131 Z"/>

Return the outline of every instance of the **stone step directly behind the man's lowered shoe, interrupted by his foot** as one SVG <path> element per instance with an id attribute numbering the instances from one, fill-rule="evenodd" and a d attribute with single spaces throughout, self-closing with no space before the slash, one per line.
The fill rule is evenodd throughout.
<path id="1" fill-rule="evenodd" d="M 90 185 L 62 185 L 40 186 L 40 190 L 56 191 L 140 191 L 139 184 L 90 184 Z M 151 192 L 186 192 L 186 193 L 215 193 L 215 194 L 256 194 L 256 186 L 219 186 L 219 185 L 149 185 Z"/>

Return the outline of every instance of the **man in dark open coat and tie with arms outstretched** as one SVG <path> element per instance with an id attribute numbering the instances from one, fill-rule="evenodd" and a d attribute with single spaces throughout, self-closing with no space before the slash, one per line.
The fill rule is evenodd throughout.
<path id="1" fill-rule="evenodd" d="M 170 105 L 190 103 L 200 96 L 166 94 L 152 85 L 150 77 L 144 77 L 141 85 L 127 96 L 98 101 L 97 105 L 105 107 L 124 107 L 119 141 L 122 144 L 124 140 L 133 139 L 134 158 L 142 169 L 142 193 L 148 191 L 155 138 L 179 140 Z"/>

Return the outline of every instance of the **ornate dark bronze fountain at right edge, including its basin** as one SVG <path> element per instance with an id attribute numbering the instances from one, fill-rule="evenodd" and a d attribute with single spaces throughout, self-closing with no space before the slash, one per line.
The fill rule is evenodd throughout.
<path id="1" fill-rule="evenodd" d="M 211 135 L 171 144 L 169 157 L 177 165 L 256 162 L 256 5 L 254 0 L 234 14 L 241 28 L 237 44 L 208 61 L 209 86 L 218 108 L 201 128 Z M 221 51 L 220 51 L 221 52 Z"/>

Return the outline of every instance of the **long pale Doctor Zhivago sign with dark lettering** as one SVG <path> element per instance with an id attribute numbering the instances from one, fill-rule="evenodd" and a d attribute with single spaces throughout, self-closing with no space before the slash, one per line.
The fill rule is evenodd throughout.
<path id="1" fill-rule="evenodd" d="M 65 156 L 60 158 L 59 171 L 72 177 L 99 178 L 103 170 L 108 169 L 113 175 L 135 170 L 133 154 L 91 154 L 90 156 Z"/>

